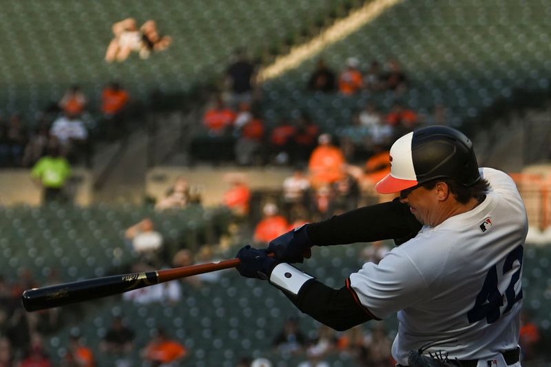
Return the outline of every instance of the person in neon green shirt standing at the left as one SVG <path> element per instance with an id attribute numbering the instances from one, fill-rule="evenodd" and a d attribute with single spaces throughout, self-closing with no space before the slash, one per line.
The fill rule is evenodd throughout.
<path id="1" fill-rule="evenodd" d="M 43 190 L 43 203 L 66 200 L 63 189 L 71 174 L 71 165 L 55 143 L 48 147 L 47 154 L 31 169 L 34 182 Z"/>

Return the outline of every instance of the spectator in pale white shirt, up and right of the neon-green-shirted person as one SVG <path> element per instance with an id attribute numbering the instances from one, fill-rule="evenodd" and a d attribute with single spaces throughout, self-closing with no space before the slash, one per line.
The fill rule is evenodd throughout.
<path id="1" fill-rule="evenodd" d="M 83 120 L 77 118 L 76 115 L 61 114 L 50 129 L 50 136 L 53 136 L 61 145 L 61 149 L 69 157 L 71 162 L 74 162 L 75 154 L 81 152 L 89 153 L 87 150 L 88 130 L 85 127 Z"/>

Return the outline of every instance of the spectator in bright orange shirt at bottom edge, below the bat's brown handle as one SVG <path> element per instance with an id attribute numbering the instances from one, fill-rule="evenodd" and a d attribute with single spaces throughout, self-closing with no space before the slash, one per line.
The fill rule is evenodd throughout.
<path id="1" fill-rule="evenodd" d="M 153 366 L 165 366 L 165 364 L 183 361 L 187 354 L 187 348 L 176 340 L 169 339 L 163 328 L 157 329 L 156 337 L 143 350 L 144 359 L 151 362 Z"/>

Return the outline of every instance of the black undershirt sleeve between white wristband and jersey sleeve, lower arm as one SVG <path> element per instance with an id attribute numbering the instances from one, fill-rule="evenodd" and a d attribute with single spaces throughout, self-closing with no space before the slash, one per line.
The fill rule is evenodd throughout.
<path id="1" fill-rule="evenodd" d="M 347 286 L 333 289 L 313 279 L 304 284 L 296 296 L 284 290 L 282 292 L 302 313 L 336 331 L 345 331 L 370 319 L 377 319 L 360 304 Z"/>

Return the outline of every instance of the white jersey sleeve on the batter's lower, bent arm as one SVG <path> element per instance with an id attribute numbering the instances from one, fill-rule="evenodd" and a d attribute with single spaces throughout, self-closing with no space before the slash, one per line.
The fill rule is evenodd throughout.
<path id="1" fill-rule="evenodd" d="M 389 252 L 379 264 L 364 264 L 360 271 L 350 275 L 347 283 L 357 302 L 378 319 L 429 296 L 426 280 L 399 247 Z"/>

